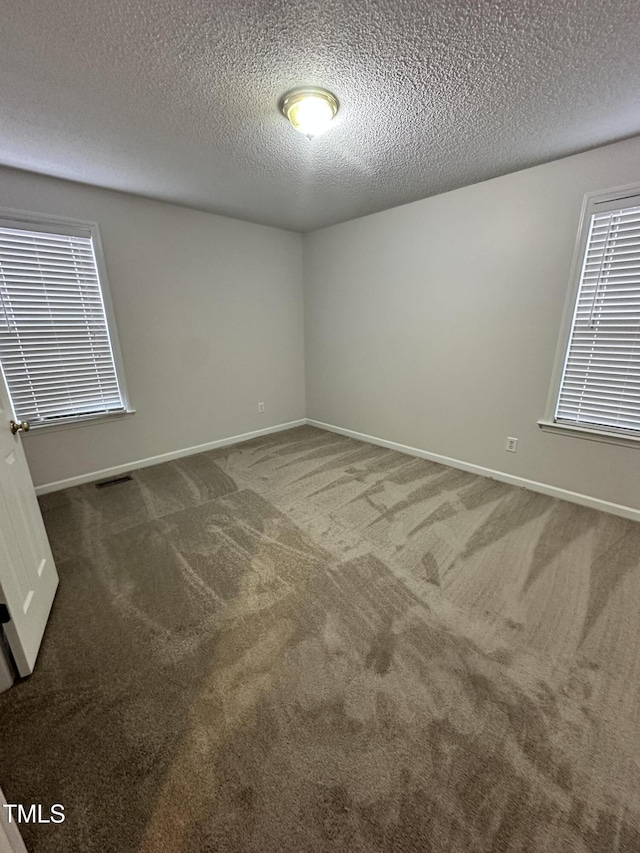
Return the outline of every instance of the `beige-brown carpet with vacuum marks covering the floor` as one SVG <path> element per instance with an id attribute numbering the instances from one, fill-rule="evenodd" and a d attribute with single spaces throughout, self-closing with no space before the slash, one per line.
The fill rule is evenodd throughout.
<path id="1" fill-rule="evenodd" d="M 42 508 L 32 853 L 640 851 L 640 525 L 311 427 Z"/>

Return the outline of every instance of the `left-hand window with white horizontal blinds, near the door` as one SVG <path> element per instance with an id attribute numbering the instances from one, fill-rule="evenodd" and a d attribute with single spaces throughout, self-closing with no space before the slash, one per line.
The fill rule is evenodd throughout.
<path id="1" fill-rule="evenodd" d="M 129 411 L 97 226 L 0 219 L 0 364 L 32 427 Z"/>

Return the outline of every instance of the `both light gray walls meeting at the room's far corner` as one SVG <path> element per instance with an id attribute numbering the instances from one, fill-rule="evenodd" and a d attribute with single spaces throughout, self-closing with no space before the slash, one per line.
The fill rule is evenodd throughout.
<path id="1" fill-rule="evenodd" d="M 307 416 L 640 508 L 640 447 L 536 424 L 583 195 L 638 163 L 629 140 L 306 235 Z M 305 416 L 299 235 L 6 169 L 0 205 L 99 223 L 137 409 L 25 436 L 36 484 Z"/>

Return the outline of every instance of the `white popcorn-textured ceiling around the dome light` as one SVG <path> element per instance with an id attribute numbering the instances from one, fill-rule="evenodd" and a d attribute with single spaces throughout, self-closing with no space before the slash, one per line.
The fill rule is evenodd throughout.
<path id="1" fill-rule="evenodd" d="M 638 0 L 4 0 L 0 163 L 306 231 L 640 133 Z M 309 142 L 278 113 L 341 103 Z"/>

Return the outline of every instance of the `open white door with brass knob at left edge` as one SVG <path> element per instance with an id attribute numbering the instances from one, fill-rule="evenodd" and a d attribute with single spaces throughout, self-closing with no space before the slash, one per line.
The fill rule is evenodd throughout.
<path id="1" fill-rule="evenodd" d="M 0 610 L 20 675 L 29 675 L 58 586 L 20 434 L 13 435 L 9 395 L 0 370 Z"/>

